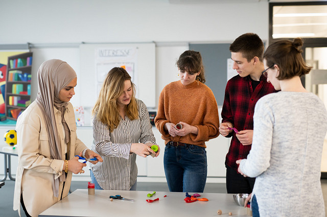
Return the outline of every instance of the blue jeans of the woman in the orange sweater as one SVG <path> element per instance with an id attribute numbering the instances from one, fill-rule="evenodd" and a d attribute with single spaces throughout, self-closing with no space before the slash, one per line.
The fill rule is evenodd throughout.
<path id="1" fill-rule="evenodd" d="M 202 193 L 206 175 L 206 150 L 196 145 L 165 147 L 164 168 L 171 192 Z"/>

